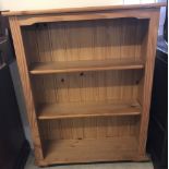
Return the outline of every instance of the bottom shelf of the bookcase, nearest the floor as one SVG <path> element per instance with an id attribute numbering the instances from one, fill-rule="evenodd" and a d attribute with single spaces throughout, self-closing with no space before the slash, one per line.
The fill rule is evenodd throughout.
<path id="1" fill-rule="evenodd" d="M 134 136 L 46 142 L 46 164 L 132 160 L 137 154 Z"/>

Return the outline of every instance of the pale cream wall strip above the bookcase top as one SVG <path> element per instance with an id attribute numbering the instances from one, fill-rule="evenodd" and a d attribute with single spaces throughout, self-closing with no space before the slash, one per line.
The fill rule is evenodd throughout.
<path id="1" fill-rule="evenodd" d="M 39 9 L 150 3 L 162 0 L 0 0 L 1 10 L 24 11 Z"/>

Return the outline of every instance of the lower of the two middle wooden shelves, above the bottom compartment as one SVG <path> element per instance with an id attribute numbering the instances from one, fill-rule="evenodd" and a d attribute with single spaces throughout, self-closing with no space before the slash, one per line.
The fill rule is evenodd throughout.
<path id="1" fill-rule="evenodd" d="M 38 107 L 38 119 L 64 119 L 106 116 L 136 116 L 141 106 L 136 101 L 107 101 L 88 104 L 44 104 Z"/>

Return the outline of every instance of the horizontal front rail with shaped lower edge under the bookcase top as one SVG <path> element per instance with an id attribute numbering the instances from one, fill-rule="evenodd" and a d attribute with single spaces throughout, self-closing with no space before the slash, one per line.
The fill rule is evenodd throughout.
<path id="1" fill-rule="evenodd" d="M 63 22 L 63 21 L 88 21 L 88 20 L 109 20 L 109 19 L 122 19 L 122 17 L 135 17 L 135 19 L 149 19 L 149 11 L 156 11 L 156 9 L 150 10 L 116 10 L 116 11 L 106 11 L 106 12 L 88 12 L 82 13 L 81 15 L 77 13 L 73 14 L 49 14 L 49 15 L 26 15 L 21 16 L 19 19 L 21 26 L 28 26 L 36 23 L 45 23 L 45 22 Z"/>

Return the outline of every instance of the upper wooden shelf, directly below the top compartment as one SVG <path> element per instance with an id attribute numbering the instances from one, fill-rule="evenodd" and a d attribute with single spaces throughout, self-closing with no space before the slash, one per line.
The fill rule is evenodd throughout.
<path id="1" fill-rule="evenodd" d="M 143 69 L 144 63 L 141 60 L 133 59 L 109 59 L 109 60 L 86 60 L 86 61 L 58 61 L 33 63 L 31 65 L 32 74 L 49 74 L 79 71 L 101 71 L 101 70 L 131 70 Z"/>

